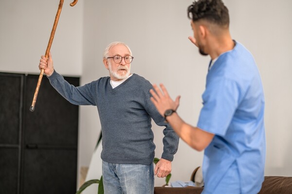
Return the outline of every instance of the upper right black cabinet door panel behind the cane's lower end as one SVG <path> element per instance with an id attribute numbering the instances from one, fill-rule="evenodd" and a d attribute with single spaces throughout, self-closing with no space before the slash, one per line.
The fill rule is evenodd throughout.
<path id="1" fill-rule="evenodd" d="M 38 76 L 27 76 L 24 141 L 35 144 L 77 145 L 78 106 L 65 100 L 43 77 L 35 111 L 29 111 Z M 70 79 L 78 85 L 78 79 Z M 76 83 L 77 82 L 77 83 Z"/>

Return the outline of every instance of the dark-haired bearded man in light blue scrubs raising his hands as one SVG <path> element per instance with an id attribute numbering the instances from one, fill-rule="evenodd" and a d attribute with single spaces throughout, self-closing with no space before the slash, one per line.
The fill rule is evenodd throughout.
<path id="1" fill-rule="evenodd" d="M 228 9 L 221 0 L 198 0 L 188 7 L 194 37 L 211 61 L 197 127 L 176 112 L 164 85 L 154 85 L 151 101 L 176 133 L 204 150 L 202 194 L 256 194 L 264 180 L 266 153 L 264 93 L 252 54 L 229 33 Z"/>

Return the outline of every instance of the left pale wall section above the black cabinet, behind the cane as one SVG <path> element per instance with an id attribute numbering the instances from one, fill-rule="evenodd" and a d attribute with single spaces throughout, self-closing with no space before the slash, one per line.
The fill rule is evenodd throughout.
<path id="1" fill-rule="evenodd" d="M 82 71 L 83 2 L 65 0 L 51 52 L 58 72 L 80 76 Z M 0 71 L 39 74 L 58 0 L 1 0 Z M 34 92 L 34 91 L 33 91 Z"/>

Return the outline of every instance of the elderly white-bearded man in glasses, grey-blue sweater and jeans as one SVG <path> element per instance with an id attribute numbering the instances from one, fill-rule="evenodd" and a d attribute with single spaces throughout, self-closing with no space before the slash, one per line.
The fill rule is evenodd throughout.
<path id="1" fill-rule="evenodd" d="M 153 194 L 154 174 L 165 177 L 177 152 L 179 137 L 164 123 L 164 118 L 150 101 L 152 85 L 145 78 L 130 73 L 133 60 L 129 47 L 113 42 L 105 50 L 103 63 L 109 77 L 101 77 L 81 87 L 74 87 L 54 71 L 51 53 L 41 56 L 52 86 L 74 105 L 97 106 L 102 126 L 102 174 L 105 194 Z M 153 169 L 155 144 L 151 118 L 164 128 L 164 152 Z"/>

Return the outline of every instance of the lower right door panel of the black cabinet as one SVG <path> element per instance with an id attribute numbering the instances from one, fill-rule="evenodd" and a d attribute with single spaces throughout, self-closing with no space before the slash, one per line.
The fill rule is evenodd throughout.
<path id="1" fill-rule="evenodd" d="M 74 194 L 75 149 L 25 149 L 22 194 Z"/>

